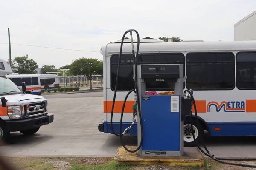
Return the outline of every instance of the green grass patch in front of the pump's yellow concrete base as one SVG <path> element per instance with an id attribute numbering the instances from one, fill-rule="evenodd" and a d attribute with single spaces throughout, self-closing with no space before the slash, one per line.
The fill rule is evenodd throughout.
<path id="1" fill-rule="evenodd" d="M 111 161 L 102 165 L 84 165 L 84 164 L 71 164 L 70 170 L 130 170 L 132 166 L 129 165 L 116 165 Z"/>

